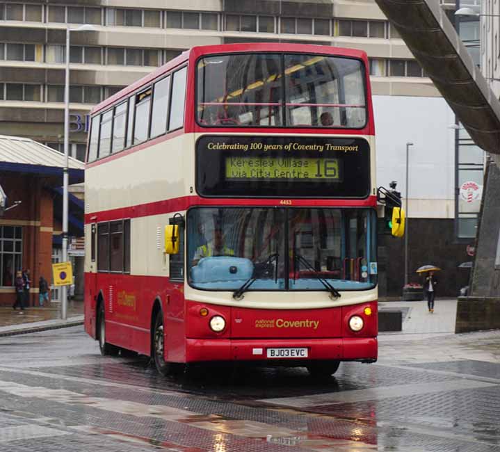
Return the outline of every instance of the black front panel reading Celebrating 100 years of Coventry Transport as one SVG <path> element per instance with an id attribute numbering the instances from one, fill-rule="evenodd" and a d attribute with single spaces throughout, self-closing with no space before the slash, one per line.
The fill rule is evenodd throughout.
<path id="1" fill-rule="evenodd" d="M 350 197 L 370 193 L 364 138 L 202 136 L 196 191 L 205 197 Z"/>

